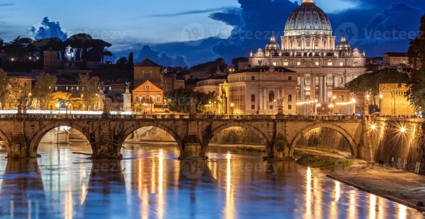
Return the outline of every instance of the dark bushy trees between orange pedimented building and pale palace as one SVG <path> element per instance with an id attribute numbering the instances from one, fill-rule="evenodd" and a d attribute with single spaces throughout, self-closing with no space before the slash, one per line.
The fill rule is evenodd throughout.
<path id="1" fill-rule="evenodd" d="M 203 92 L 196 92 L 194 90 L 185 90 L 179 88 L 172 90 L 165 94 L 166 107 L 172 112 L 189 113 L 190 100 L 196 101 L 196 112 L 198 113 L 212 113 L 214 110 L 211 108 L 211 103 L 216 101 L 216 94 L 210 92 L 205 94 Z"/>

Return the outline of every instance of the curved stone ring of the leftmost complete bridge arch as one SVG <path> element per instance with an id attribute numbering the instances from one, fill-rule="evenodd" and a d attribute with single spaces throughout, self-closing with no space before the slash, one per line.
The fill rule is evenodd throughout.
<path id="1" fill-rule="evenodd" d="M 90 146 L 92 147 L 92 151 L 94 151 L 93 149 L 93 144 L 94 142 L 90 142 L 90 136 L 88 134 L 88 130 L 86 130 L 86 128 L 81 127 L 80 125 L 77 125 L 75 123 L 71 123 L 68 121 L 57 121 L 54 123 L 47 123 L 47 124 L 43 124 L 40 130 L 38 130 L 36 133 L 34 133 L 34 135 L 31 138 L 31 141 L 29 142 L 29 153 L 32 156 L 37 155 L 37 150 L 38 150 L 38 145 L 40 144 L 42 138 L 51 130 L 57 128 L 57 127 L 62 127 L 62 126 L 66 126 L 66 127 L 71 127 L 72 129 L 76 129 L 77 131 L 81 132 L 83 134 L 83 136 L 86 137 L 86 139 L 89 141 Z"/>

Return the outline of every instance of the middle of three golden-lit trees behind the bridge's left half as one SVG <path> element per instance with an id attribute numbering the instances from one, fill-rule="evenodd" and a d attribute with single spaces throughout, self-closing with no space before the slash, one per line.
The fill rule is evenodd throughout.
<path id="1" fill-rule="evenodd" d="M 53 90 L 55 89 L 57 77 L 41 73 L 36 77 L 36 83 L 32 90 L 32 97 L 37 100 L 37 105 L 43 110 L 47 109 L 49 102 L 53 100 Z"/>

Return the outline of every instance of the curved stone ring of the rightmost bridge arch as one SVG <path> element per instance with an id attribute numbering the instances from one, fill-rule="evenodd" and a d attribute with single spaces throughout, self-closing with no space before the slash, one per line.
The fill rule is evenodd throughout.
<path id="1" fill-rule="evenodd" d="M 350 133 L 348 133 L 348 131 L 346 131 L 346 129 L 339 127 L 338 125 L 331 124 L 331 123 L 315 123 L 313 125 L 309 125 L 309 126 L 303 128 L 292 139 L 291 145 L 290 145 L 291 148 L 289 149 L 289 154 L 292 157 L 294 156 L 296 143 L 298 142 L 298 140 L 300 140 L 302 135 L 304 135 L 305 133 L 307 133 L 307 132 L 309 132 L 313 129 L 318 129 L 318 128 L 333 129 L 334 131 L 337 131 L 338 133 L 340 133 L 347 140 L 348 144 L 350 145 L 350 151 L 351 151 L 352 157 L 358 157 L 358 155 L 359 155 L 358 144 L 355 141 L 355 139 L 352 137 L 352 135 Z"/>

